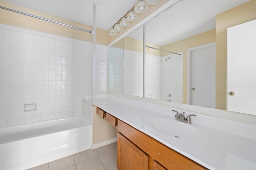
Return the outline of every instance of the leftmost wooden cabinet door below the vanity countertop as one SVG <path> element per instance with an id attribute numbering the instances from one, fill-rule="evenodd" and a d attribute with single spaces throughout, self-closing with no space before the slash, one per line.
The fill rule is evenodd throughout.
<path id="1" fill-rule="evenodd" d="M 133 143 L 117 134 L 118 170 L 148 170 L 148 156 Z"/>

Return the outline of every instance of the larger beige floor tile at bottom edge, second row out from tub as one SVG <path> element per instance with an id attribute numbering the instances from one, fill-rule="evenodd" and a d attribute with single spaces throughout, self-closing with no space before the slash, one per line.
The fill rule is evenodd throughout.
<path id="1" fill-rule="evenodd" d="M 90 158 L 83 162 L 76 164 L 77 170 L 104 170 L 104 166 L 100 162 L 98 156 Z"/>

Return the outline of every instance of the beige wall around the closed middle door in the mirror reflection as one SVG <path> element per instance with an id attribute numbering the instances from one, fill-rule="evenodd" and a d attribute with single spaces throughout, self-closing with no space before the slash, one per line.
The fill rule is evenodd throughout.
<path id="1" fill-rule="evenodd" d="M 183 103 L 188 101 L 188 54 L 187 50 L 192 47 L 212 43 L 215 41 L 215 29 L 182 39 L 180 41 L 162 46 L 163 50 L 173 51 L 175 53 L 183 52 Z M 162 52 L 162 56 L 170 55 L 170 53 Z"/>

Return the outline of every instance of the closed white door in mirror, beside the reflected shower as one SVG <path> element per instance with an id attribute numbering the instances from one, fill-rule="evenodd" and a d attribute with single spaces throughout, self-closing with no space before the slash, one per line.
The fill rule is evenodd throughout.
<path id="1" fill-rule="evenodd" d="M 215 108 L 215 43 L 189 49 L 189 104 Z"/>

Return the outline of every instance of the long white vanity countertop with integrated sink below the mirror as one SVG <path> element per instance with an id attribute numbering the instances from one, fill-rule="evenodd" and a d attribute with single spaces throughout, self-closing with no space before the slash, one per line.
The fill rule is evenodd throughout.
<path id="1" fill-rule="evenodd" d="M 190 111 L 185 116 L 197 115 L 192 124 L 182 123 L 172 111 L 180 109 L 124 98 L 96 99 L 96 106 L 211 170 L 256 167 L 256 125 Z M 161 127 L 162 121 L 173 130 Z"/>

